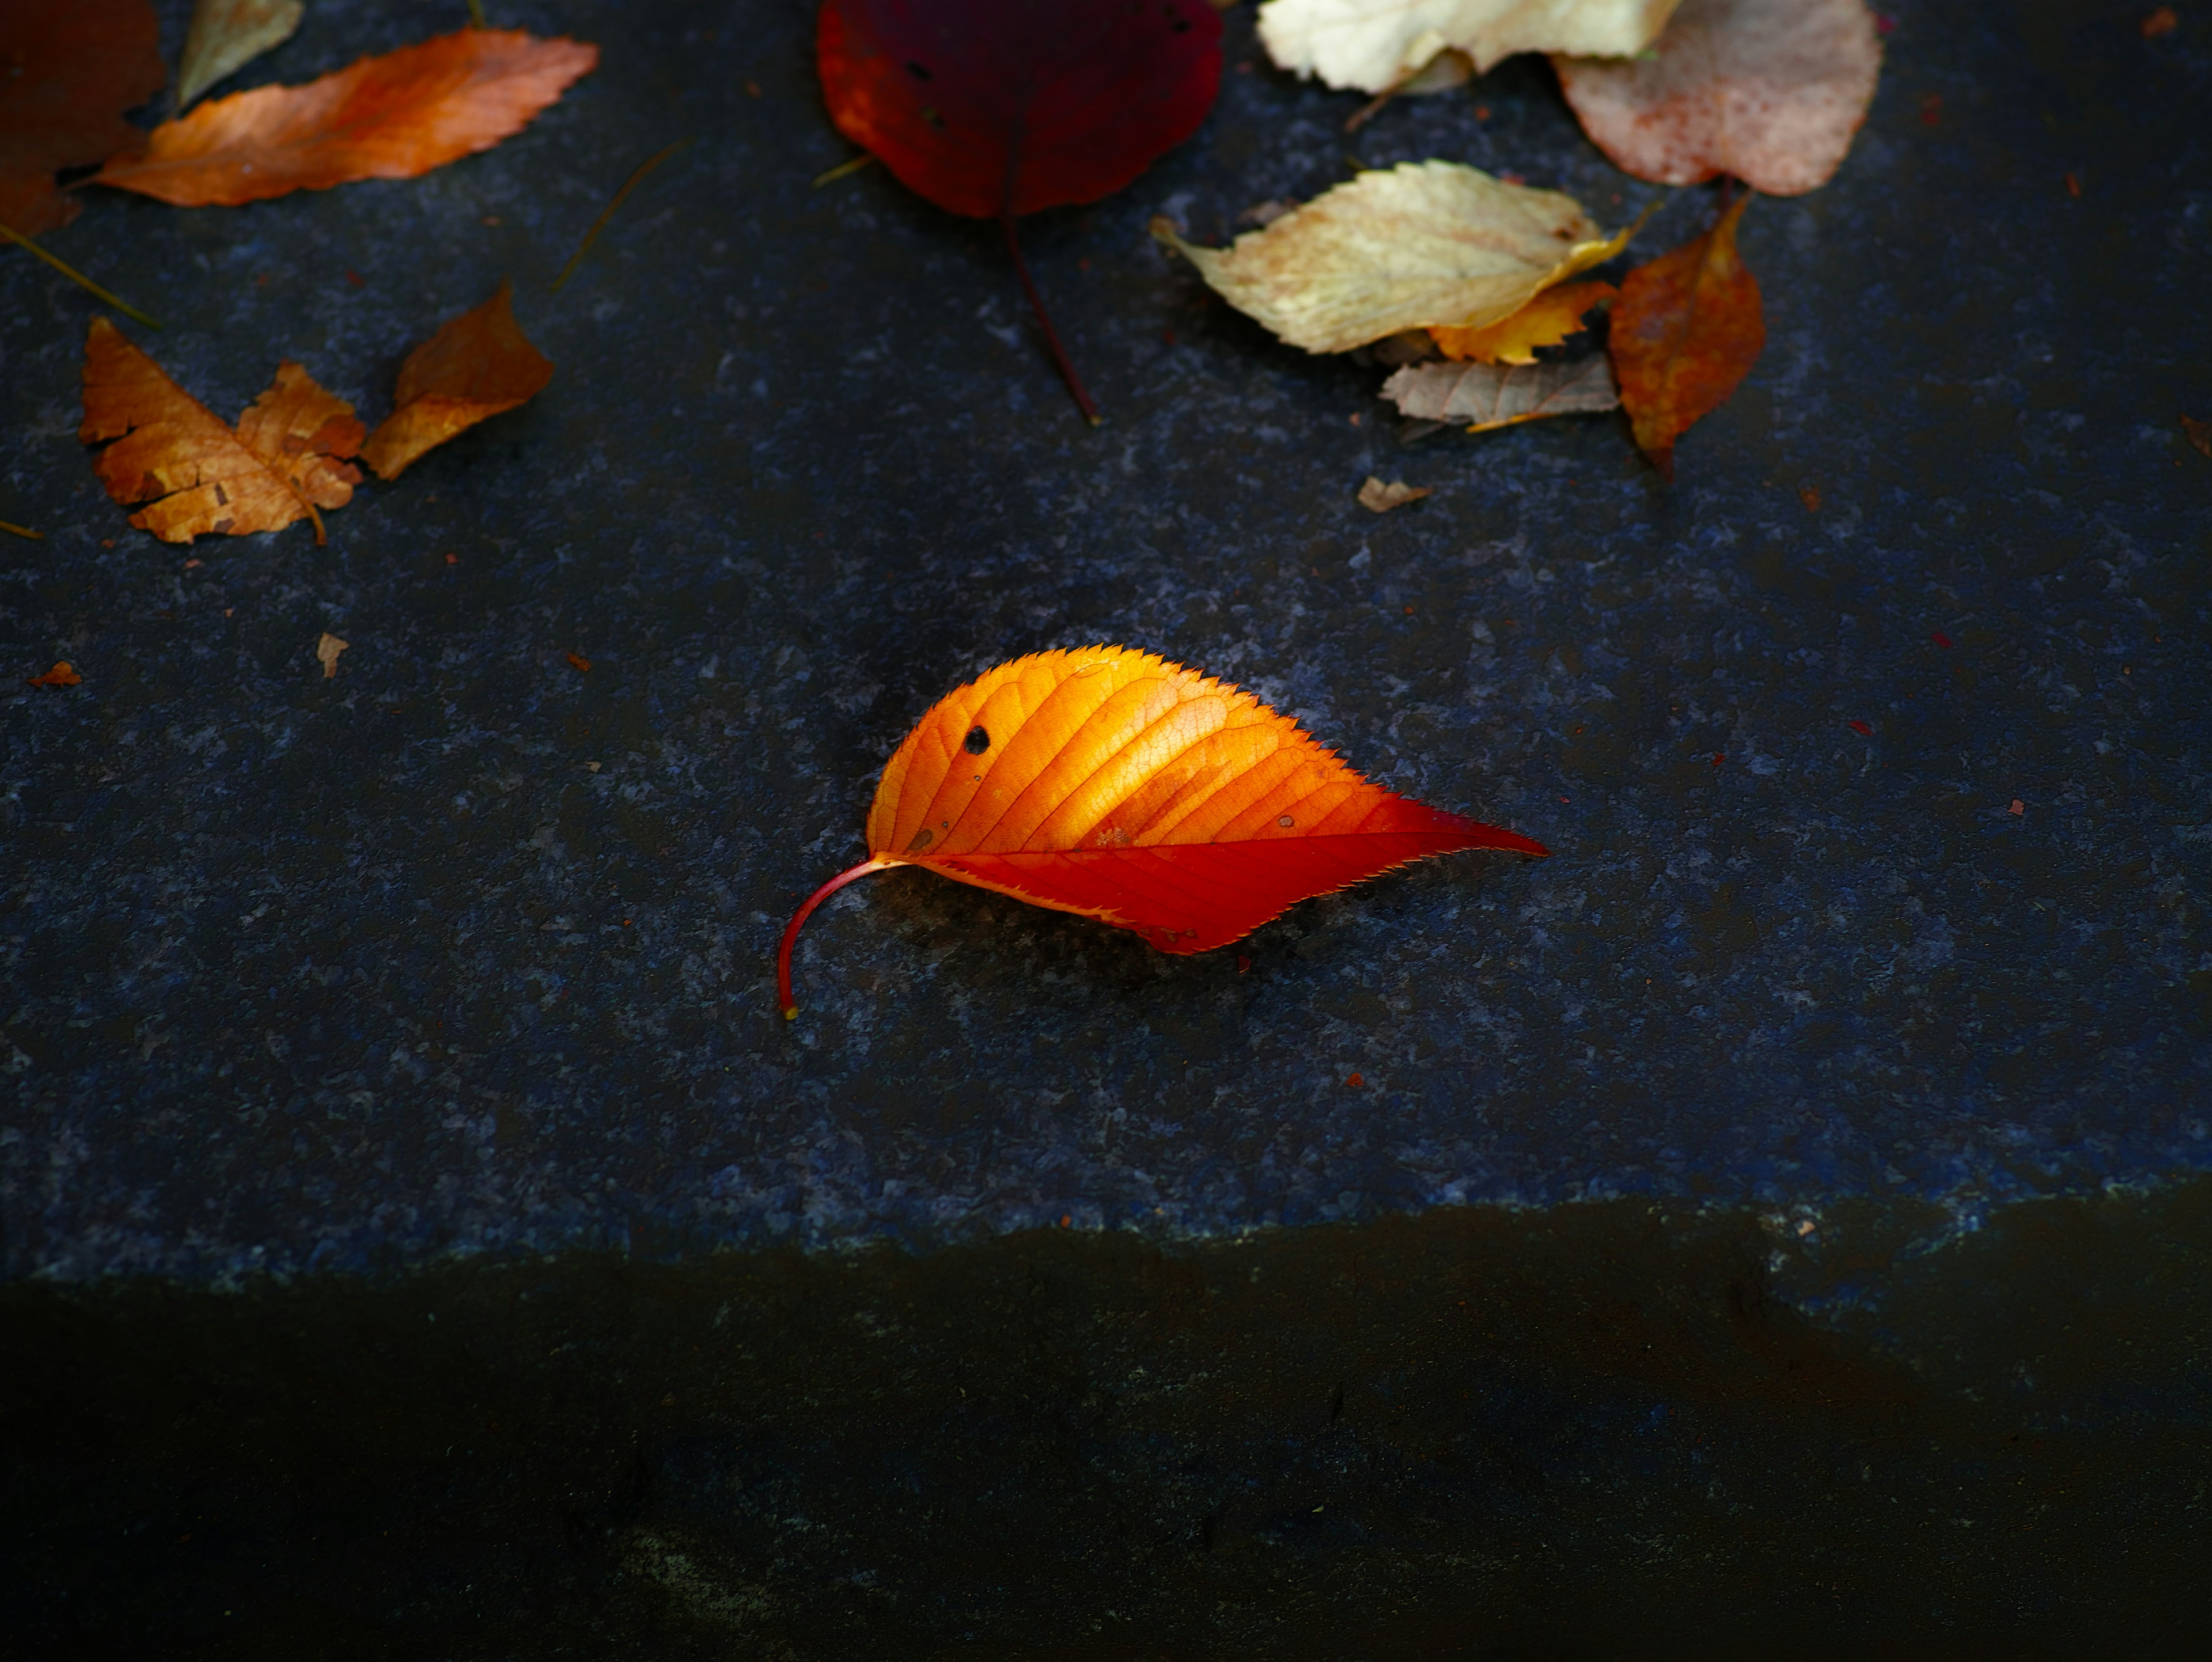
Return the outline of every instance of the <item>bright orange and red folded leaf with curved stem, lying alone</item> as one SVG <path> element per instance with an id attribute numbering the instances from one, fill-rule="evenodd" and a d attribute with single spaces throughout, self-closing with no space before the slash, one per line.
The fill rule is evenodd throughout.
<path id="1" fill-rule="evenodd" d="M 1241 941 L 1310 894 L 1460 848 L 1548 852 L 1360 779 L 1250 693 L 1128 646 L 1035 653 L 940 699 L 883 770 L 856 876 L 940 876 L 1135 929 L 1161 952 Z"/>

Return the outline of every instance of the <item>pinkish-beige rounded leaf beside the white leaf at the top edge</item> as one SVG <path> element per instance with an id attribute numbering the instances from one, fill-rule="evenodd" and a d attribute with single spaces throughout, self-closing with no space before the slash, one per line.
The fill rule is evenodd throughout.
<path id="1" fill-rule="evenodd" d="M 1584 131 L 1639 179 L 1732 173 L 1796 197 L 1851 148 L 1882 42 L 1863 0 L 1683 0 L 1655 58 L 1557 69 Z"/>

